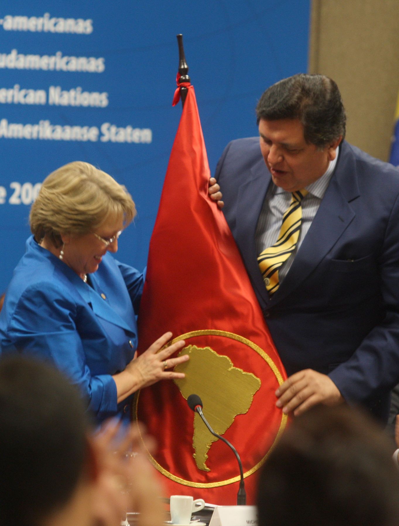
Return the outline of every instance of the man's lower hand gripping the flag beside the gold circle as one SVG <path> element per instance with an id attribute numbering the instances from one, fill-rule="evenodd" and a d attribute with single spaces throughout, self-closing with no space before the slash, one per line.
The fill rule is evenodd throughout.
<path id="1" fill-rule="evenodd" d="M 277 389 L 276 396 L 276 406 L 282 407 L 284 413 L 294 411 L 295 416 L 317 403 L 335 406 L 344 400 L 333 380 L 313 369 L 304 369 L 290 376 Z"/>

